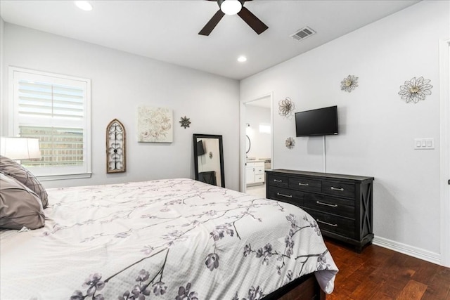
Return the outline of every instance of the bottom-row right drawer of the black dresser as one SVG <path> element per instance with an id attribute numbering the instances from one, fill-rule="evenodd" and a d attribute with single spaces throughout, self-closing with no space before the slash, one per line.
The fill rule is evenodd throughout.
<path id="1" fill-rule="evenodd" d="M 320 211 L 307 209 L 307 212 L 316 219 L 317 224 L 321 230 L 344 235 L 345 237 L 354 238 L 354 220 L 334 216 L 332 214 L 324 214 Z"/>

